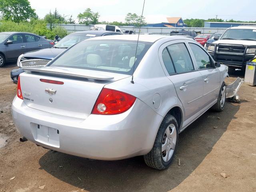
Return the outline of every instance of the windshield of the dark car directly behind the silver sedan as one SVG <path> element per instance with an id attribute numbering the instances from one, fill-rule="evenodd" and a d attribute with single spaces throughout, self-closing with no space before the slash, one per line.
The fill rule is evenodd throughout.
<path id="1" fill-rule="evenodd" d="M 67 35 L 66 37 L 64 37 L 63 39 L 61 39 L 56 45 L 54 45 L 53 47 L 56 48 L 68 48 L 82 40 L 85 39 L 89 39 L 89 38 L 93 38 L 96 37 L 98 35 L 95 34 L 82 34 L 82 33 L 78 33 L 78 34 L 70 34 Z"/>

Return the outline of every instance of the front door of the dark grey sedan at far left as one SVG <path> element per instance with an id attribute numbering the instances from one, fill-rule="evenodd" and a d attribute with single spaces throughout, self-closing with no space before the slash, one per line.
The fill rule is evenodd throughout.
<path id="1" fill-rule="evenodd" d="M 18 59 L 21 54 L 27 52 L 26 43 L 22 34 L 15 34 L 8 38 L 8 40 L 12 41 L 12 44 L 5 45 L 7 60 Z"/>

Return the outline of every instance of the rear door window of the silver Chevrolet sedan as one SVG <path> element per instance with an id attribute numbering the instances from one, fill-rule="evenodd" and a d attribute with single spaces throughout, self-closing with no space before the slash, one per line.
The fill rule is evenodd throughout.
<path id="1" fill-rule="evenodd" d="M 167 47 L 177 73 L 190 72 L 194 66 L 184 43 L 172 44 Z"/>

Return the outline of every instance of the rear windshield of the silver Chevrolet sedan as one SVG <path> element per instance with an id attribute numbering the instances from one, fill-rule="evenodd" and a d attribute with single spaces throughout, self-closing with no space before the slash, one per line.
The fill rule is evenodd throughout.
<path id="1" fill-rule="evenodd" d="M 51 66 L 132 74 L 152 43 L 128 40 L 86 40 L 64 52 Z"/>

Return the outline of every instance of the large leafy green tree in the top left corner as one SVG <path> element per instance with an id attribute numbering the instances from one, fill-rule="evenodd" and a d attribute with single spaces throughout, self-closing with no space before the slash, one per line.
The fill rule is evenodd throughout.
<path id="1" fill-rule="evenodd" d="M 28 0 L 0 0 L 0 12 L 4 20 L 14 22 L 28 21 L 36 17 L 35 10 L 31 8 Z"/>

